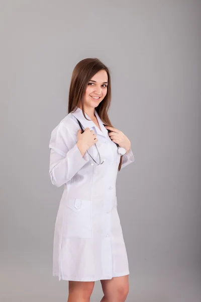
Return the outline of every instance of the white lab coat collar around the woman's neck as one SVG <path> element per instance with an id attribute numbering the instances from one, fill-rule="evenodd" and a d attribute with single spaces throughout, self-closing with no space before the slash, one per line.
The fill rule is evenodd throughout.
<path id="1" fill-rule="evenodd" d="M 84 129 L 87 127 L 89 127 L 89 128 L 94 127 L 97 134 L 108 137 L 108 130 L 103 125 L 103 121 L 100 119 L 100 117 L 97 114 L 97 111 L 95 109 L 94 109 L 94 114 L 97 118 L 100 129 L 96 126 L 96 124 L 92 120 L 88 121 L 87 119 L 85 119 L 85 117 L 82 113 L 82 110 L 79 107 L 77 107 L 74 112 L 71 112 L 71 114 L 74 115 L 74 117 L 76 117 L 80 121 L 80 123 Z M 90 117 L 86 113 L 85 113 L 85 115 L 88 119 L 90 119 Z"/>

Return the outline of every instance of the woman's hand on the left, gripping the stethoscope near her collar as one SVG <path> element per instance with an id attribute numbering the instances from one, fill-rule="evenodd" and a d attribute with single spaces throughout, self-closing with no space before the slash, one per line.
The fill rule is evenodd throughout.
<path id="1" fill-rule="evenodd" d="M 88 127 L 81 133 L 81 129 L 77 132 L 77 147 L 83 157 L 86 150 L 97 142 L 96 134 Z"/>

